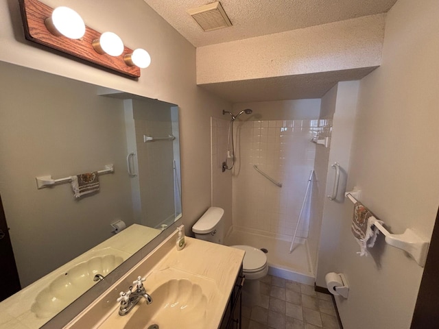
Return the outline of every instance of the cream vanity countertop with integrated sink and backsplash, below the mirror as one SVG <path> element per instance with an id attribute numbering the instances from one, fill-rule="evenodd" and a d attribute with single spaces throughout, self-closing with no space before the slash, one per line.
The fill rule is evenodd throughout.
<path id="1" fill-rule="evenodd" d="M 177 251 L 175 239 L 171 234 L 67 328 L 217 328 L 244 252 L 191 238 L 186 238 L 185 249 Z M 145 278 L 143 287 L 152 303 L 142 298 L 128 314 L 119 315 L 117 297 L 139 275 Z"/>

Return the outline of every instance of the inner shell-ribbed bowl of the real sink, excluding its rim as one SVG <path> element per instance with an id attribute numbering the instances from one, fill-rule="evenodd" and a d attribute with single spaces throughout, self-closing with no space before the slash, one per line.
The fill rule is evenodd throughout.
<path id="1" fill-rule="evenodd" d="M 139 303 L 139 308 L 124 328 L 208 328 L 208 299 L 199 284 L 188 279 L 173 279 L 151 291 L 153 302 Z"/>

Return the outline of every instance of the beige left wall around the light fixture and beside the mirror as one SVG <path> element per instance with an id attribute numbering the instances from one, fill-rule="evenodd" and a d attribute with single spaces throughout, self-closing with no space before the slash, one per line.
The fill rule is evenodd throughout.
<path id="1" fill-rule="evenodd" d="M 139 80 L 131 80 L 28 42 L 23 36 L 19 3 L 14 0 L 0 3 L 0 60 L 178 104 L 183 221 L 189 234 L 196 219 L 211 205 L 210 117 L 230 104 L 196 86 L 195 48 L 144 1 L 130 1 L 130 5 L 117 0 L 45 3 L 51 7 L 69 5 L 93 29 L 110 30 L 119 34 L 128 47 L 147 49 L 151 66 L 142 70 Z"/>

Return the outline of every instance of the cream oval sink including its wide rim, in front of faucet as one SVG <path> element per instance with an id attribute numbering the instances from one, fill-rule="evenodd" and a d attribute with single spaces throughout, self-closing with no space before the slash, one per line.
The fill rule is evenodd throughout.
<path id="1" fill-rule="evenodd" d="M 100 320 L 99 329 L 210 328 L 217 301 L 223 297 L 215 281 L 187 271 L 167 267 L 152 271 L 143 282 L 152 303 L 145 298 L 127 315 L 119 307 Z"/>

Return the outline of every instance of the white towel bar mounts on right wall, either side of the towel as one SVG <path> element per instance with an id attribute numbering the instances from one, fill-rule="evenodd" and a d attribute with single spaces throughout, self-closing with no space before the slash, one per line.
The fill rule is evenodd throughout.
<path id="1" fill-rule="evenodd" d="M 354 191 L 346 192 L 344 195 L 348 197 L 353 204 L 356 204 L 358 202 L 357 198 L 361 195 L 361 190 L 354 188 Z M 377 220 L 375 217 L 372 218 Z M 403 234 L 391 234 L 378 221 L 375 221 L 374 225 L 384 234 L 385 242 L 388 243 L 388 245 L 403 249 L 410 254 L 414 260 L 416 260 L 418 265 L 424 267 L 430 244 L 429 241 L 418 236 L 418 234 L 416 234 L 411 228 L 407 228 Z"/>

